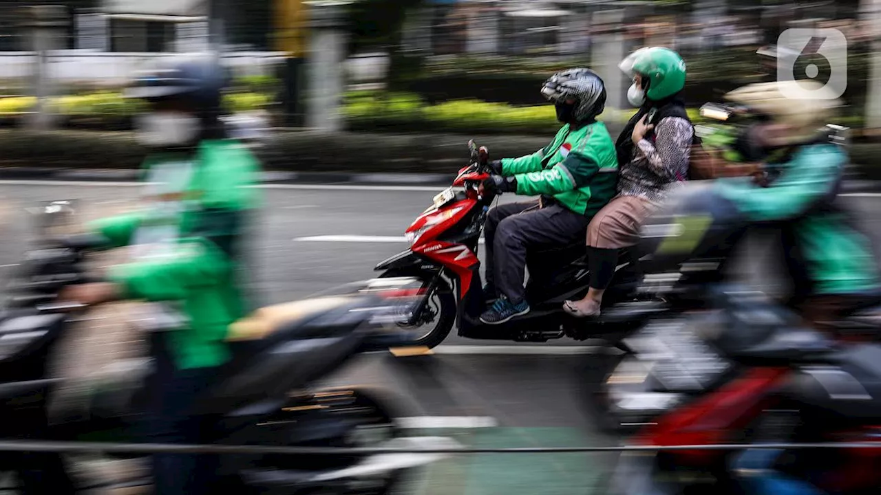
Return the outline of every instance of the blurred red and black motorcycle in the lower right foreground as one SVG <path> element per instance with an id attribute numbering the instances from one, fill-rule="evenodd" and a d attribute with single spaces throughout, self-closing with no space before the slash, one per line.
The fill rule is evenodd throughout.
<path id="1" fill-rule="evenodd" d="M 628 443 L 697 447 L 621 454 L 608 492 L 743 493 L 744 477 L 766 476 L 738 460 L 748 447 L 700 446 L 787 442 L 877 445 L 778 452 L 760 468 L 826 493 L 877 492 L 881 344 L 834 341 L 741 286 L 719 286 L 712 299 L 716 311 L 633 336 L 637 352 L 604 383 Z"/>

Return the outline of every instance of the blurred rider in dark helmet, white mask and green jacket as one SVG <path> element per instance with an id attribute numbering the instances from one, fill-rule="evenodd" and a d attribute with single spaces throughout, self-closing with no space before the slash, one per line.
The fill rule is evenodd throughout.
<path id="1" fill-rule="evenodd" d="M 127 96 L 143 100 L 137 137 L 152 152 L 144 161 L 148 208 L 91 226 L 102 247 L 134 247 L 107 282 L 70 286 L 63 298 L 89 305 L 141 299 L 154 306 L 155 362 L 146 418 L 153 443 L 212 441 L 210 422 L 188 408 L 218 366 L 230 358 L 227 326 L 247 314 L 243 267 L 248 213 L 258 203 L 259 164 L 228 139 L 219 120 L 226 72 L 211 57 L 174 58 L 137 78 Z M 154 454 L 154 490 L 209 491 L 216 458 Z"/>

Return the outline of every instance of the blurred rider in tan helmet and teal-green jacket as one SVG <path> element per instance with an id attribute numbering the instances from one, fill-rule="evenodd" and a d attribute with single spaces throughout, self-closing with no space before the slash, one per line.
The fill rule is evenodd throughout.
<path id="1" fill-rule="evenodd" d="M 749 179 L 714 187 L 747 220 L 783 223 L 790 270 L 801 271 L 793 306 L 825 327 L 877 303 L 881 280 L 870 240 L 835 201 L 848 156 L 823 128 L 840 101 L 813 81 L 747 85 L 726 98 L 765 117 L 744 130 L 737 151 L 755 162 L 774 156 L 766 165 L 773 179 L 766 187 Z"/>

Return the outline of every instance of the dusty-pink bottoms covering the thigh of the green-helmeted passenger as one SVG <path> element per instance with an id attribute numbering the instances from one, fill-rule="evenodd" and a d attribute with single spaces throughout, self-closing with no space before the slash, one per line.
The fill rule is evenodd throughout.
<path id="1" fill-rule="evenodd" d="M 640 227 L 657 205 L 639 196 L 615 196 L 588 225 L 588 246 L 620 249 L 640 240 Z"/>

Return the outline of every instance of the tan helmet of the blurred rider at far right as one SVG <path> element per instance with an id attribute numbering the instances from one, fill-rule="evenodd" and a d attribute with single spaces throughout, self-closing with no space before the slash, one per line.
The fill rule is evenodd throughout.
<path id="1" fill-rule="evenodd" d="M 801 98 L 791 95 L 803 94 Z M 793 128 L 788 143 L 803 142 L 817 135 L 835 115 L 841 101 L 816 81 L 774 81 L 745 85 L 725 95 L 726 100 L 770 116 Z"/>

